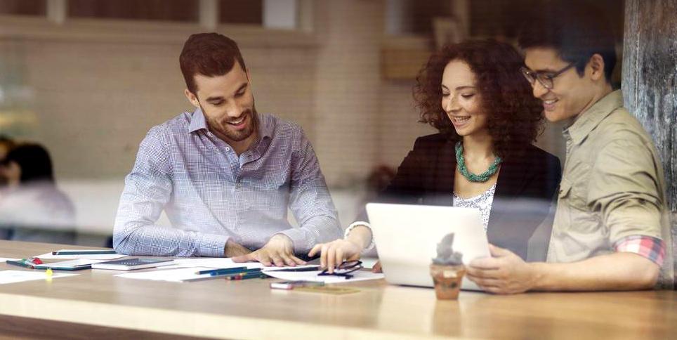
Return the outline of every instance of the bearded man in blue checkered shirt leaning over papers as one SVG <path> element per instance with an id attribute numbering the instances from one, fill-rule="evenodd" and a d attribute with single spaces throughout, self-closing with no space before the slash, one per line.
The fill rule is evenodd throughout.
<path id="1" fill-rule="evenodd" d="M 235 41 L 193 34 L 179 62 L 197 109 L 141 142 L 115 218 L 115 250 L 296 266 L 305 264 L 296 255 L 341 237 L 312 145 L 296 124 L 256 112 Z M 163 209 L 172 227 L 156 224 Z"/>

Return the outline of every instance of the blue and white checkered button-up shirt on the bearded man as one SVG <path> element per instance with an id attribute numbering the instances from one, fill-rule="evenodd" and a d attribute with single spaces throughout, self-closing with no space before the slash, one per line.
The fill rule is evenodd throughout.
<path id="1" fill-rule="evenodd" d="M 258 115 L 258 141 L 238 155 L 201 110 L 153 127 L 139 147 L 113 230 L 122 254 L 223 256 L 230 237 L 259 249 L 277 233 L 307 254 L 341 237 L 315 151 L 303 130 Z M 287 220 L 291 209 L 299 228 Z M 166 211 L 172 227 L 157 225 Z"/>

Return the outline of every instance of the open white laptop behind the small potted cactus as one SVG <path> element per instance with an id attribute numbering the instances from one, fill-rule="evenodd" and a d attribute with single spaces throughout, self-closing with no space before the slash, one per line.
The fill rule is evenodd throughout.
<path id="1" fill-rule="evenodd" d="M 379 260 L 386 282 L 433 287 L 430 263 L 442 237 L 454 233 L 454 251 L 463 263 L 491 256 L 479 209 L 406 204 L 367 204 Z M 482 290 L 463 279 L 461 289 Z"/>

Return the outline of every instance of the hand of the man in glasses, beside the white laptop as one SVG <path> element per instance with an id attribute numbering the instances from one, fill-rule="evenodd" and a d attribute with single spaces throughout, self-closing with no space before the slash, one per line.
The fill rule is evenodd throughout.
<path id="1" fill-rule="evenodd" d="M 489 244 L 492 257 L 474 259 L 468 266 L 468 279 L 495 294 L 515 294 L 532 289 L 536 273 L 529 263 L 508 249 Z"/>

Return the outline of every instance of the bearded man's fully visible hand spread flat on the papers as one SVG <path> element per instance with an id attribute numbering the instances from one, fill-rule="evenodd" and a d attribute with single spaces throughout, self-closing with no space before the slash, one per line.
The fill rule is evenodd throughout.
<path id="1" fill-rule="evenodd" d="M 268 243 L 263 248 L 258 249 L 247 255 L 235 256 L 233 262 L 261 262 L 263 266 L 275 264 L 277 267 L 292 266 L 297 264 L 305 265 L 305 261 L 294 256 L 294 244 L 291 239 L 284 234 L 275 234 L 270 237 Z"/>

